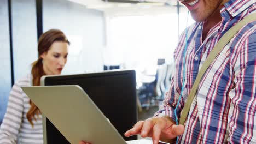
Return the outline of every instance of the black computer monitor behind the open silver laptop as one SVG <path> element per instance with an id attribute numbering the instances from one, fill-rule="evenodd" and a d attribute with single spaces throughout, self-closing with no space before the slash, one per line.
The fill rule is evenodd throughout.
<path id="1" fill-rule="evenodd" d="M 124 136 L 125 131 L 137 122 L 135 70 L 110 70 L 90 74 L 43 76 L 41 85 L 79 85 L 126 141 L 137 139 L 136 135 Z M 48 144 L 69 143 L 47 118 L 46 131 Z"/>

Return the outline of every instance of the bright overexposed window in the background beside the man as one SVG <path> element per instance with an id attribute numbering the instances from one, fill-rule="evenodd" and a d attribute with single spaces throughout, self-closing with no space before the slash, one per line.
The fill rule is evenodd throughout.
<path id="1" fill-rule="evenodd" d="M 184 17 L 185 14 L 185 17 Z M 180 31 L 185 29 L 187 14 L 180 17 Z M 173 62 L 178 43 L 178 14 L 134 15 L 111 17 L 107 31 L 104 62 L 144 70 L 156 67 L 157 59 Z M 188 26 L 191 25 L 189 15 Z"/>

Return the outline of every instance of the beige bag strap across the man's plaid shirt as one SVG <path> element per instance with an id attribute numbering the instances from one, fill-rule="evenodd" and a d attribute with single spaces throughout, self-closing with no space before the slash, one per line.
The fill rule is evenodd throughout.
<path id="1" fill-rule="evenodd" d="M 234 37 L 234 35 L 243 27 L 245 26 L 247 23 L 252 22 L 253 20 L 256 20 L 256 13 L 254 14 L 250 14 L 248 16 L 245 17 L 245 19 L 243 19 L 242 21 L 238 22 L 235 26 L 231 27 L 229 29 L 228 32 L 226 32 L 222 38 L 220 38 L 220 40 L 218 41 L 218 43 L 216 44 L 216 46 L 214 46 L 213 50 L 211 51 L 210 55 L 206 58 L 205 63 L 203 63 L 202 68 L 200 69 L 196 80 L 193 84 L 193 87 L 189 93 L 188 96 L 188 100 L 185 103 L 182 113 L 181 113 L 181 118 L 179 119 L 179 124 L 184 125 L 187 117 L 188 117 L 188 113 L 189 113 L 189 109 L 190 106 L 192 104 L 192 101 L 195 97 L 195 94 L 197 92 L 197 88 L 199 87 L 199 83 L 201 81 L 201 78 L 203 76 L 203 74 L 205 74 L 205 71 L 208 69 L 208 67 L 211 65 L 211 63 L 213 62 L 213 60 L 217 57 L 218 53 L 220 51 L 222 51 L 222 49 L 224 49 L 224 47 L 229 43 L 229 41 Z"/>

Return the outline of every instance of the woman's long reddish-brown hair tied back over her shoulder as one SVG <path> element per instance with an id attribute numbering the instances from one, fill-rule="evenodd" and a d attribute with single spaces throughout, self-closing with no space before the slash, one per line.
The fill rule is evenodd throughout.
<path id="1" fill-rule="evenodd" d="M 44 52 L 48 52 L 51 44 L 53 44 L 55 41 L 63 41 L 70 45 L 66 35 L 59 29 L 50 29 L 49 31 L 43 33 L 38 40 L 38 59 L 32 63 L 31 69 L 33 86 L 40 86 L 40 79 L 43 75 L 45 75 L 42 63 L 43 59 L 40 57 L 40 55 L 42 55 Z M 30 105 L 30 110 L 27 112 L 27 119 L 33 127 L 34 124 L 32 119 L 36 121 L 35 115 L 38 116 L 41 112 L 31 100 Z"/>

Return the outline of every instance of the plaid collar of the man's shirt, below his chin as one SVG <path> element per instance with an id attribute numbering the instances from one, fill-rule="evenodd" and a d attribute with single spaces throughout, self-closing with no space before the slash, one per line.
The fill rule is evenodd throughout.
<path id="1" fill-rule="evenodd" d="M 220 13 L 223 14 L 225 11 L 228 11 L 232 17 L 235 17 L 255 2 L 256 0 L 230 0 L 224 4 Z"/>

